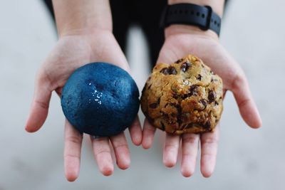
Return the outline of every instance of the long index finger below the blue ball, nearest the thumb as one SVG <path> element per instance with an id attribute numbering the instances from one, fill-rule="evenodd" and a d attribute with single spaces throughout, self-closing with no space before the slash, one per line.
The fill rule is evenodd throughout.
<path id="1" fill-rule="evenodd" d="M 74 129 L 66 120 L 64 140 L 64 169 L 66 179 L 75 181 L 79 174 L 81 160 L 81 144 L 83 134 Z"/>

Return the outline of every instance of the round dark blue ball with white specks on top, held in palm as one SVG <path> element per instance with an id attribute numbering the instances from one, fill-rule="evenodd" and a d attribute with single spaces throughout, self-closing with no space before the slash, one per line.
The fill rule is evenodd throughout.
<path id="1" fill-rule="evenodd" d="M 109 137 L 129 127 L 138 114 L 133 78 L 109 63 L 89 63 L 68 78 L 61 95 L 67 120 L 80 132 Z"/>

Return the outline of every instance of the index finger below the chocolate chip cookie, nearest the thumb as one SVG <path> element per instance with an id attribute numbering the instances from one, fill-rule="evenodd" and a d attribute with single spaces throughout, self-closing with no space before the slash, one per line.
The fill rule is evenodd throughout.
<path id="1" fill-rule="evenodd" d="M 201 134 L 201 173 L 204 177 L 209 177 L 214 171 L 216 164 L 219 125 L 215 127 L 214 132 Z"/>

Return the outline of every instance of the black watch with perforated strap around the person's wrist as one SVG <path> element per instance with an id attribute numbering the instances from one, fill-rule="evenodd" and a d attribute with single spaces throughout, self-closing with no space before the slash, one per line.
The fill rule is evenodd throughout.
<path id="1" fill-rule="evenodd" d="M 196 4 L 172 4 L 165 6 L 160 20 L 161 27 L 180 23 L 198 26 L 204 31 L 212 30 L 219 36 L 221 18 L 210 6 Z"/>

